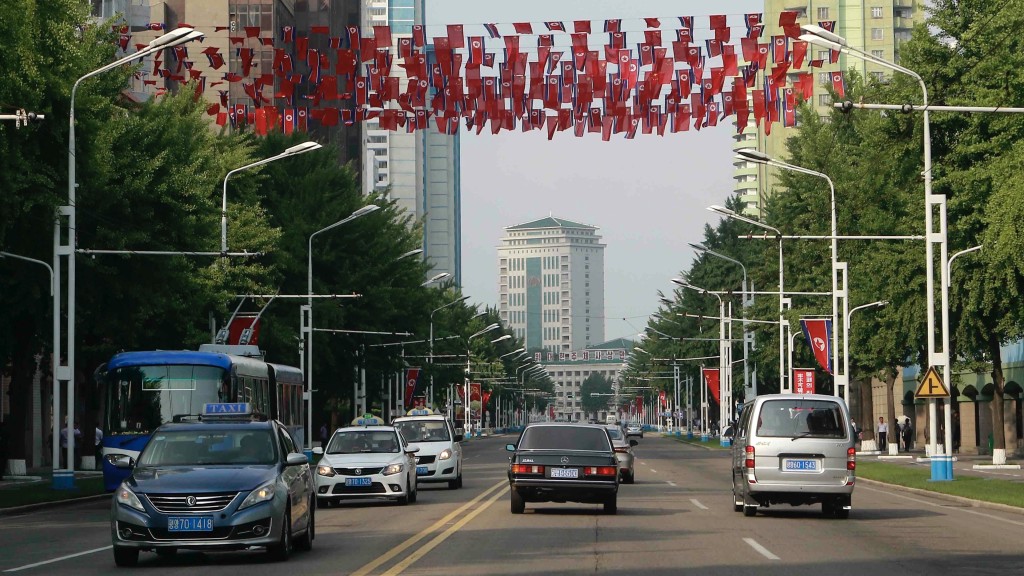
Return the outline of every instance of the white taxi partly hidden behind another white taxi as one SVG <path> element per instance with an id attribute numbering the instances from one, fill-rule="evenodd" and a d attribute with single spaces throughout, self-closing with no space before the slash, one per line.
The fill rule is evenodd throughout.
<path id="1" fill-rule="evenodd" d="M 410 411 L 410 416 L 394 419 L 394 427 L 409 442 L 416 444 L 418 482 L 446 482 L 450 489 L 462 488 L 462 435 L 455 433 L 452 421 L 443 414 L 422 414 Z"/>

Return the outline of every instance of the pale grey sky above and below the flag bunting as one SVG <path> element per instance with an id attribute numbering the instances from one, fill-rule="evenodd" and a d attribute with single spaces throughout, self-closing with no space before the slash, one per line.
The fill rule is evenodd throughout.
<path id="1" fill-rule="evenodd" d="M 432 25 L 463 24 L 467 36 L 482 35 L 482 24 L 593 20 L 591 38 L 601 37 L 606 18 L 622 18 L 642 41 L 644 17 L 662 19 L 665 42 L 676 16 L 694 16 L 695 35 L 708 15 L 727 14 L 735 37 L 742 14 L 760 12 L 754 0 L 426 0 L 427 35 Z M 739 27 L 739 31 L 735 29 Z M 636 31 L 636 32 L 633 32 Z M 487 50 L 501 40 L 487 39 Z M 528 43 L 523 40 L 523 46 Z M 593 46 L 592 46 L 593 49 Z M 738 50 L 737 50 L 738 51 Z M 486 70 L 486 69 L 485 69 Z M 597 227 L 604 250 L 605 339 L 636 338 L 658 307 L 657 291 L 671 294 L 672 278 L 693 258 L 689 242 L 703 239 L 705 225 L 719 216 L 706 208 L 732 195 L 731 122 L 665 136 L 599 134 L 578 138 L 541 130 L 462 132 L 462 287 L 470 302 L 498 305 L 498 246 L 505 228 L 549 215 Z"/>

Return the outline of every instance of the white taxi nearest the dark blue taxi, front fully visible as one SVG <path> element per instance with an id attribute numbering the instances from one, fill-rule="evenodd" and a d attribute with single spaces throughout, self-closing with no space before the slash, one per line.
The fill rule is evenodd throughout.
<path id="1" fill-rule="evenodd" d="M 370 498 L 415 502 L 419 450 L 394 426 L 338 428 L 316 465 L 316 504 Z"/>

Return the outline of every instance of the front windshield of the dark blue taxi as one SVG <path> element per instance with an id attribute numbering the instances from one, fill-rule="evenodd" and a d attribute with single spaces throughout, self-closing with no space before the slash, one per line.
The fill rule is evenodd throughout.
<path id="1" fill-rule="evenodd" d="M 278 461 L 269 429 L 169 430 L 153 435 L 139 466 L 273 464 Z"/>

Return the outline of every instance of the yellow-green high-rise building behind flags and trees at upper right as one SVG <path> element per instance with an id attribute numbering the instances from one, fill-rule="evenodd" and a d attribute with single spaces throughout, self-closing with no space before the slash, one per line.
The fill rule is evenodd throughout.
<path id="1" fill-rule="evenodd" d="M 763 38 L 770 40 L 782 35 L 783 31 L 778 26 L 779 14 L 794 11 L 801 25 L 835 23 L 834 32 L 846 38 L 850 46 L 884 60 L 899 61 L 901 44 L 910 39 L 913 26 L 924 20 L 924 0 L 765 0 Z M 811 102 L 822 118 L 828 117 L 833 108 L 827 88 L 833 86 L 834 72 L 855 69 L 868 80 L 882 80 L 892 74 L 884 67 L 847 54 L 841 54 L 839 60 L 833 64 L 829 50 L 814 45 L 808 46 L 806 57 L 807 60 L 820 59 L 824 63 L 821 68 L 809 70 L 814 75 Z M 790 71 L 788 86 L 793 85 L 797 74 L 808 72 L 807 60 L 804 70 Z M 759 85 L 763 85 L 761 79 Z M 787 159 L 785 140 L 794 135 L 796 127 L 774 123 L 771 134 L 765 134 L 763 123 L 759 128 L 754 128 L 752 118 L 751 125 L 735 136 L 733 150 L 754 148 L 772 158 Z M 778 181 L 778 171 L 742 160 L 735 161 L 733 166 L 734 190 L 745 203 L 744 211 L 759 214 L 764 199 L 772 194 Z"/>

